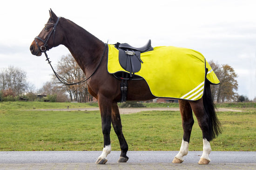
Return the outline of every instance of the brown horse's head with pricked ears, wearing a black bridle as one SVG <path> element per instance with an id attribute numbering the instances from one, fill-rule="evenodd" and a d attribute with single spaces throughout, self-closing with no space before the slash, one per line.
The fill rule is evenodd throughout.
<path id="1" fill-rule="evenodd" d="M 60 45 L 63 40 L 63 33 L 58 26 L 60 25 L 60 18 L 55 15 L 52 9 L 49 12 L 50 18 L 45 27 L 30 45 L 30 51 L 35 56 L 41 56 L 42 52 Z"/>

